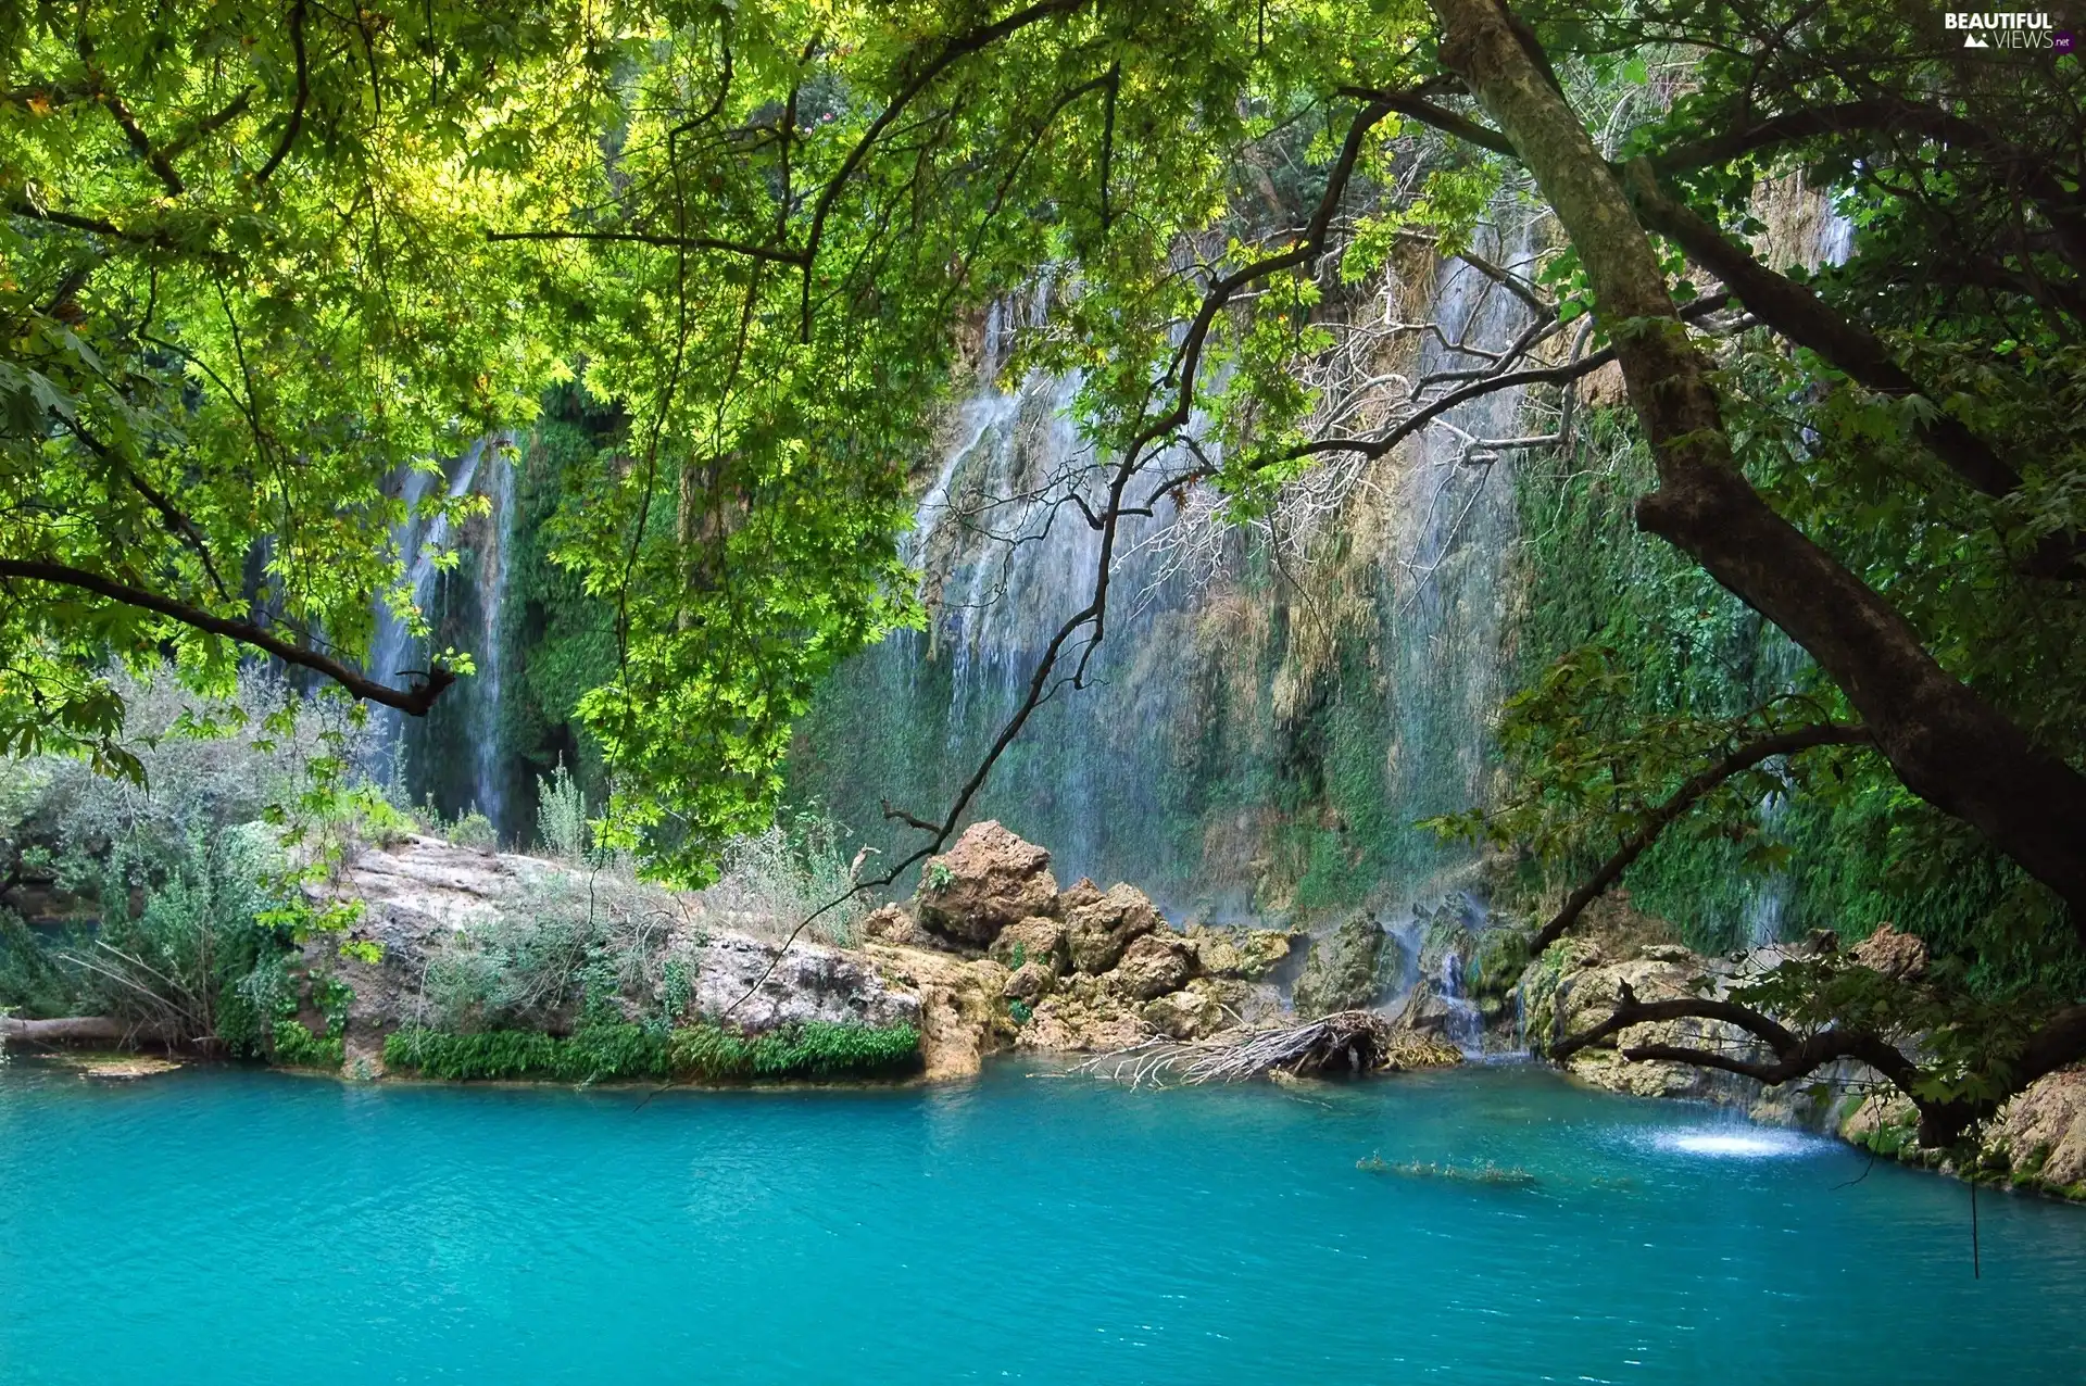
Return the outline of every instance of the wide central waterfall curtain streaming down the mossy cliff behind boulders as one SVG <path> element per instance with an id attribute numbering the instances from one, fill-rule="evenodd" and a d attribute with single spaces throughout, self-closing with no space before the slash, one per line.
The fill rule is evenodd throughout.
<path id="1" fill-rule="evenodd" d="M 1481 240 L 1487 258 L 1525 269 L 1533 231 L 1523 219 Z M 1460 261 L 1418 296 L 1479 350 L 1529 321 Z M 845 665 L 793 752 L 793 796 L 887 855 L 916 838 L 882 800 L 939 817 L 1091 596 L 1099 536 L 1047 500 L 1074 488 L 1097 500 L 1097 459 L 1070 417 L 1078 381 L 993 379 L 1010 336 L 1041 313 L 1041 294 L 993 308 L 980 386 L 922 469 L 907 556 L 930 629 Z M 1418 365 L 1483 356 L 1431 344 Z M 1222 525 L 1208 494 L 1126 519 L 1089 686 L 1037 711 L 970 817 L 1049 846 L 1062 882 L 1137 882 L 1177 917 L 1323 917 L 1364 896 L 1437 894 L 1471 857 L 1412 823 L 1489 788 L 1514 540 L 1514 452 L 1475 442 L 1519 436 L 1519 394 L 1502 392 L 1381 463 L 1381 484 L 1329 521 L 1350 594 L 1333 613 L 1297 586 L 1314 581 L 1293 569 L 1304 554 Z"/>

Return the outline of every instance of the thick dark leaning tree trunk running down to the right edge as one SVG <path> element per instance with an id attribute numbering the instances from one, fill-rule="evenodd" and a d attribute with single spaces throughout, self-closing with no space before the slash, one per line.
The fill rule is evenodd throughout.
<path id="1" fill-rule="evenodd" d="M 1658 488 L 1638 500 L 1638 525 L 1804 646 L 1905 786 L 2063 896 L 2086 938 L 2086 777 L 1942 669 L 1902 615 L 1752 490 L 1650 240 L 1533 35 L 1500 0 L 1431 4 L 1444 25 L 1441 63 L 1514 142 L 1592 279 L 1594 313 L 1615 340 L 1658 467 Z"/>

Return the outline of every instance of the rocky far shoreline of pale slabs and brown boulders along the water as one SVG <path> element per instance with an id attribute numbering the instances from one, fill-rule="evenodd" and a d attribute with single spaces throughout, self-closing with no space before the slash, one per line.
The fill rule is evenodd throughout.
<path id="1" fill-rule="evenodd" d="M 613 888 L 611 888 L 613 886 Z M 409 1075 L 415 1036 L 563 1042 L 588 1025 L 678 1036 L 684 1048 L 730 1050 L 718 1071 L 763 1075 L 761 1046 L 803 1048 L 801 1036 L 874 1040 L 874 1065 L 830 1075 L 966 1078 L 995 1053 L 1103 1055 L 1151 1042 L 1227 1042 L 1339 1011 L 1383 1005 L 1402 1044 L 1396 1067 L 1448 1065 L 1462 1050 L 1533 1055 L 1606 1019 L 1623 988 L 1642 1000 L 1721 994 L 1733 982 L 1819 942 L 1706 957 L 1671 942 L 1658 921 L 1633 915 L 1627 896 L 1608 902 L 1575 938 L 1494 980 L 1479 1013 L 1460 996 L 1464 967 L 1483 969 L 1485 938 L 1444 907 L 1414 938 L 1393 940 L 1373 915 L 1354 915 L 1312 938 L 1302 932 L 1174 927 L 1135 886 L 1101 890 L 1089 880 L 1060 888 L 1049 852 L 999 823 L 974 823 L 922 871 L 912 907 L 884 905 L 843 944 L 776 938 L 780 921 L 695 894 L 638 892 L 569 863 L 398 836 L 355 850 L 319 886 L 321 907 L 348 905 L 346 934 L 302 946 L 294 969 L 296 1019 L 277 1063 L 334 1069 L 346 1080 Z M 603 998 L 576 1000 L 567 977 L 499 1021 L 457 1025 L 430 1007 L 430 980 L 482 961 L 486 940 L 526 925 L 542 900 L 584 892 L 597 909 L 638 923 L 617 955 Z M 607 905 L 601 905 L 607 900 Z M 763 938 L 761 932 L 770 936 Z M 526 942 L 526 940 L 524 940 Z M 540 940 L 536 942 L 540 946 Z M 597 944 L 599 950 L 599 944 Z M 1404 957 L 1410 952 L 1410 957 Z M 1510 955 L 1508 955 L 1510 957 Z M 1852 950 L 1854 961 L 1917 975 L 1925 950 L 1888 925 Z M 580 967 L 582 959 L 572 959 Z M 1496 969 L 1498 965 L 1491 963 Z M 1487 1023 L 1489 1021 L 1489 1023 Z M 305 1038 L 309 1036 L 309 1044 Z M 169 1046 L 169 1036 L 125 1030 L 104 1017 L 8 1019 L 0 1040 L 46 1046 Z M 665 1044 L 665 1040 L 659 1040 Z M 891 1063 L 893 1046 L 903 1063 Z M 1635 1025 L 1573 1053 L 1562 1069 L 1590 1086 L 1633 1096 L 1715 1103 L 1773 1125 L 1832 1134 L 1882 1157 L 1959 1178 L 2086 1201 L 2086 1069 L 2051 1073 L 2015 1096 L 1984 1130 L 1961 1167 L 1913 1142 L 1913 1109 L 1879 1075 L 1842 1063 L 1802 1084 L 1754 1080 L 1669 1061 L 1631 1061 L 1635 1044 L 1683 1044 L 1758 1057 L 1754 1042 L 1721 1021 Z M 707 1048 L 705 1048 L 707 1046 Z M 736 1046 L 736 1048 L 734 1048 Z M 538 1048 L 542 1048 L 538 1044 Z M 845 1044 L 843 1044 L 845 1048 Z M 859 1044 L 855 1044 L 859 1048 Z M 680 1053 L 672 1046 L 661 1055 Z M 407 1063 L 401 1063 L 401 1057 Z M 674 1063 L 655 1059 L 655 1063 Z M 146 1071 L 146 1069 L 136 1069 Z M 463 1069 L 467 1075 L 486 1075 Z M 499 1071 L 499 1069 L 494 1069 Z M 584 1065 L 580 1069 L 586 1073 Z M 778 1078 L 828 1073 L 809 1065 Z M 113 1075 L 125 1075 L 121 1065 Z M 507 1075 L 505 1071 L 499 1071 Z M 551 1075 L 515 1061 L 511 1075 Z M 569 1078 L 569 1073 L 565 1073 Z M 613 1075 L 613 1073 L 611 1073 Z"/>

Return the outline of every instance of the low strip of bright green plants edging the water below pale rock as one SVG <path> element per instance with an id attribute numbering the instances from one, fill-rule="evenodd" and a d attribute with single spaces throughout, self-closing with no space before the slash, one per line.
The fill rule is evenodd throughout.
<path id="1" fill-rule="evenodd" d="M 386 1067 L 423 1078 L 540 1078 L 555 1082 L 782 1078 L 874 1078 L 920 1061 L 912 1025 L 809 1021 L 741 1036 L 720 1025 L 659 1030 L 622 1021 L 580 1025 L 569 1036 L 532 1030 L 398 1030 L 384 1040 Z"/>

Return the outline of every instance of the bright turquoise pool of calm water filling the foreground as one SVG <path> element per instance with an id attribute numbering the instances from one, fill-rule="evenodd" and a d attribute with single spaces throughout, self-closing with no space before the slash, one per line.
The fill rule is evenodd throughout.
<path id="1" fill-rule="evenodd" d="M 17 1061 L 0 1382 L 2086 1378 L 2086 1209 L 1535 1067 L 645 1098 Z"/>

